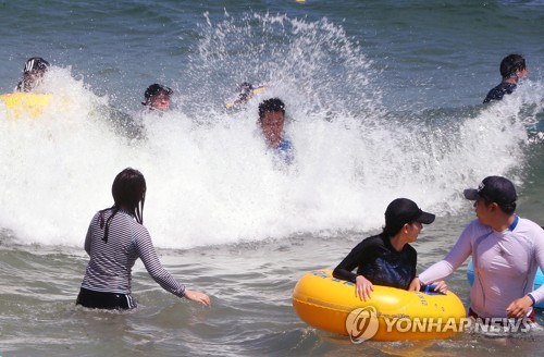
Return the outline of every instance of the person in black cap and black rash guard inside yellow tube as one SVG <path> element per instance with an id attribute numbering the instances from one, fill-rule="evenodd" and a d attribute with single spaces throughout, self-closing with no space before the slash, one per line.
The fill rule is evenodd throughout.
<path id="1" fill-rule="evenodd" d="M 408 290 L 416 278 L 418 256 L 409 245 L 418 239 L 422 223 L 434 222 L 435 216 L 422 211 L 408 198 L 393 200 L 385 210 L 385 226 L 379 235 L 363 239 L 334 269 L 333 276 L 356 284 L 361 300 L 371 297 L 373 284 Z M 353 270 L 357 268 L 357 273 Z M 436 284 L 438 291 L 447 287 Z"/>

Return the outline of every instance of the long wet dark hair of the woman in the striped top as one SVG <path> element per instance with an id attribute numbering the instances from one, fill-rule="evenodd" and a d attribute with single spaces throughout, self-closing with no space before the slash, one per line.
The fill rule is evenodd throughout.
<path id="1" fill-rule="evenodd" d="M 146 178 L 138 170 L 126 168 L 113 180 L 111 186 L 114 205 L 100 211 L 100 227 L 104 230 L 102 241 L 108 243 L 108 232 L 113 217 L 123 206 L 136 219 L 144 224 L 144 202 L 146 200 Z M 113 210 L 108 220 L 104 221 L 104 211 Z"/>

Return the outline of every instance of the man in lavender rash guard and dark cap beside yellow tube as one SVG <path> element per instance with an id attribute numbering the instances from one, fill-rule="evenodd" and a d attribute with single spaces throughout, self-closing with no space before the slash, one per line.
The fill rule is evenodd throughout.
<path id="1" fill-rule="evenodd" d="M 463 194 L 475 201 L 478 219 L 465 227 L 444 260 L 412 284 L 445 279 L 472 256 L 475 278 L 469 316 L 534 321 L 532 306 L 544 300 L 544 285 L 533 291 L 536 269 L 544 270 L 544 230 L 515 213 L 518 196 L 505 177 L 485 177 L 478 189 Z"/>

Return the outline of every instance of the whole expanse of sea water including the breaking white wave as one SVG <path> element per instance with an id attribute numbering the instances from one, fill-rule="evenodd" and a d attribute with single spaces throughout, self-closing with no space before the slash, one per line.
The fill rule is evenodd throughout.
<path id="1" fill-rule="evenodd" d="M 540 332 L 354 345 L 300 321 L 290 294 L 376 233 L 396 197 L 437 214 L 420 269 L 474 217 L 461 193 L 487 175 L 510 177 L 520 216 L 544 225 L 543 33 L 543 1 L 1 1 L 0 91 L 41 56 L 57 101 L 35 120 L 0 106 L 0 355 L 540 355 Z M 511 52 L 529 78 L 482 106 Z M 267 89 L 226 111 L 245 81 Z M 175 91 L 162 116 L 143 113 L 152 83 Z M 286 103 L 289 168 L 257 132 L 269 97 Z M 146 176 L 163 264 L 211 308 L 141 263 L 136 311 L 74 306 L 88 223 L 126 167 Z M 465 268 L 448 284 L 468 306 Z"/>

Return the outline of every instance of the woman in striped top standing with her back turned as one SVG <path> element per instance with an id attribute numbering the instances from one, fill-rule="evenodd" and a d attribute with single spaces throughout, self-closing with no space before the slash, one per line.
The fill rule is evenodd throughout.
<path id="1" fill-rule="evenodd" d="M 162 268 L 144 223 L 146 180 L 134 169 L 121 171 L 113 181 L 114 205 L 98 211 L 90 221 L 85 250 L 90 257 L 77 305 L 98 309 L 132 309 L 131 270 L 140 258 L 149 274 L 165 291 L 210 306 L 208 295 L 190 291 Z"/>

